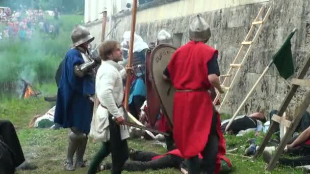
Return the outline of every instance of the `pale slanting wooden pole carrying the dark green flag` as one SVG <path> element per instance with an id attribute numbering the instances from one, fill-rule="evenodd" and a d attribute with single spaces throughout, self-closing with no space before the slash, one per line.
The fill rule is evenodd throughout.
<path id="1" fill-rule="evenodd" d="M 295 33 L 297 31 L 297 28 L 294 28 L 292 33 Z M 235 114 L 233 115 L 233 118 L 230 119 L 230 121 L 228 122 L 226 128 L 225 128 L 225 132 L 228 130 L 229 126 L 231 125 L 231 123 L 233 123 L 233 121 L 235 120 L 235 118 L 237 117 L 237 114 L 239 113 L 239 111 L 241 110 L 241 108 L 244 106 L 244 104 L 246 103 L 246 101 L 248 100 L 248 98 L 250 97 L 250 95 L 254 92 L 256 86 L 259 84 L 259 82 L 262 80 L 262 78 L 265 76 L 265 74 L 267 73 L 267 71 L 269 70 L 269 68 L 271 67 L 271 65 L 273 64 L 273 61 L 270 61 L 270 63 L 268 64 L 268 66 L 266 67 L 266 69 L 264 70 L 264 72 L 262 73 L 262 75 L 259 77 L 259 79 L 257 79 L 257 81 L 255 82 L 255 84 L 253 85 L 252 89 L 250 90 L 250 92 L 246 95 L 245 99 L 243 100 L 243 102 L 241 103 L 241 105 L 238 107 L 237 111 L 235 112 Z M 225 133 L 224 132 L 224 133 Z"/>

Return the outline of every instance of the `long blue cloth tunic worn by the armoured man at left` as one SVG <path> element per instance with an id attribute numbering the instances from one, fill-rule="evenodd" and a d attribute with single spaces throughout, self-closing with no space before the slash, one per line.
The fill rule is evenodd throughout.
<path id="1" fill-rule="evenodd" d="M 63 61 L 54 122 L 88 134 L 93 112 L 89 96 L 95 93 L 95 85 L 93 77 L 80 78 L 74 74 L 74 65 L 80 64 L 84 64 L 80 51 L 70 49 Z"/>

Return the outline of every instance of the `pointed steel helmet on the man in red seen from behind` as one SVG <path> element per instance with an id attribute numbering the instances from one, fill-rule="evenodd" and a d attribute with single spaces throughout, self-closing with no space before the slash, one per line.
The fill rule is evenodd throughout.
<path id="1" fill-rule="evenodd" d="M 190 40 L 208 41 L 211 37 L 210 26 L 199 15 L 195 16 L 190 24 Z"/>

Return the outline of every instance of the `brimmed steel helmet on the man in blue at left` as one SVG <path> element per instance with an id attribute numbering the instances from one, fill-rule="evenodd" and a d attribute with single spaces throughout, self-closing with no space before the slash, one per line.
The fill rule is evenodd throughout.
<path id="1" fill-rule="evenodd" d="M 73 47 L 92 42 L 94 39 L 95 37 L 91 36 L 88 29 L 83 25 L 76 25 L 71 35 Z"/>

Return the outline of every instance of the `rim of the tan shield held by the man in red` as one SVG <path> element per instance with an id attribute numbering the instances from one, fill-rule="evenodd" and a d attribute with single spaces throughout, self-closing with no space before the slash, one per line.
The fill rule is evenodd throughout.
<path id="1" fill-rule="evenodd" d="M 152 65 L 153 65 L 153 61 L 154 61 L 154 54 L 155 54 L 160 48 L 162 48 L 162 47 L 170 47 L 170 48 L 175 49 L 175 51 L 177 50 L 177 48 L 176 48 L 175 46 L 169 45 L 169 44 L 160 44 L 160 45 L 157 45 L 157 46 L 152 50 L 151 55 L 150 55 L 150 56 L 151 56 L 151 75 L 152 75 L 152 78 L 154 77 L 154 74 L 153 74 L 153 66 L 152 66 Z M 171 61 L 171 59 L 170 59 L 170 61 Z M 169 62 L 170 62 L 170 61 L 169 61 Z M 167 114 L 166 108 L 165 108 L 165 106 L 163 105 L 162 98 L 161 98 L 161 96 L 159 95 L 159 92 L 158 92 L 158 89 L 157 89 L 157 85 L 154 85 L 154 88 L 155 88 L 155 91 L 156 91 L 157 95 L 159 96 L 160 101 L 161 101 L 161 105 L 162 105 L 163 112 L 165 113 L 165 117 L 166 117 L 166 119 L 168 120 L 169 125 L 171 126 L 171 128 L 173 128 L 173 120 L 170 120 L 169 115 Z"/>

